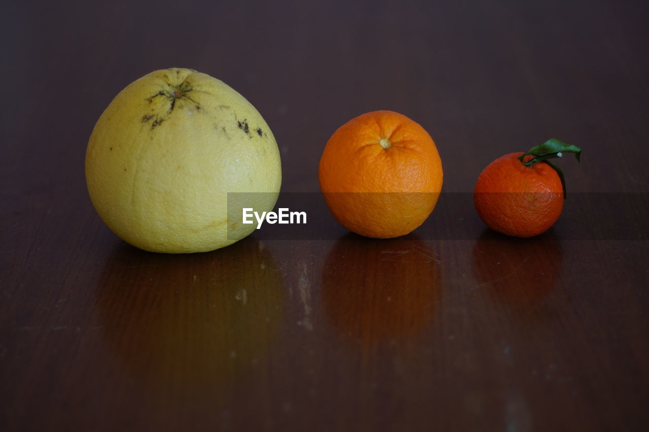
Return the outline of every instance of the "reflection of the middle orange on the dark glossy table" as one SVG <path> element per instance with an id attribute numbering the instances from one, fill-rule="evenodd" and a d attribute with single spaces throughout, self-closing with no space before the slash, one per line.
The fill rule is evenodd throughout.
<path id="1" fill-rule="evenodd" d="M 363 345 L 417 335 L 434 317 L 440 274 L 434 249 L 413 234 L 345 235 L 324 262 L 324 315 L 343 337 Z"/>

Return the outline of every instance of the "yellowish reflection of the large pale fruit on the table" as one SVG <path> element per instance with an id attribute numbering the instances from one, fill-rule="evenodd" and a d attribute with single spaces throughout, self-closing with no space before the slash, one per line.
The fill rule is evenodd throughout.
<path id="1" fill-rule="evenodd" d="M 208 389 L 263 365 L 282 326 L 284 287 L 273 257 L 254 239 L 190 255 L 123 244 L 106 261 L 97 315 L 110 350 L 136 381 Z"/>

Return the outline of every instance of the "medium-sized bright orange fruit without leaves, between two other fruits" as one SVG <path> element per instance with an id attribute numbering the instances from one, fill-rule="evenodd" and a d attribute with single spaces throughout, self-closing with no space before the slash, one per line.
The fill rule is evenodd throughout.
<path id="1" fill-rule="evenodd" d="M 428 132 L 392 111 L 362 114 L 338 128 L 324 147 L 318 174 L 336 220 L 376 238 L 420 226 L 437 203 L 443 179 Z"/>

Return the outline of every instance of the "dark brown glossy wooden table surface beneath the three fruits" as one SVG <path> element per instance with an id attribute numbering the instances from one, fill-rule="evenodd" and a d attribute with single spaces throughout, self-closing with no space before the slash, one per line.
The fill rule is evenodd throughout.
<path id="1" fill-rule="evenodd" d="M 120 3 L 3 5 L 0 430 L 646 430 L 646 3 Z M 315 204 L 338 126 L 408 115 L 441 154 L 439 208 L 385 241 L 324 212 L 205 254 L 123 243 L 88 137 L 173 66 L 247 97 L 282 191 Z M 548 138 L 583 148 L 561 219 L 490 232 L 478 174 Z"/>

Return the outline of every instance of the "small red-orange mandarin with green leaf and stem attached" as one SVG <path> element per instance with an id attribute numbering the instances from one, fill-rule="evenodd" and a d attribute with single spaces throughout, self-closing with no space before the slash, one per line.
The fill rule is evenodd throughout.
<path id="1" fill-rule="evenodd" d="M 473 199 L 480 219 L 494 231 L 533 237 L 559 219 L 566 198 L 563 173 L 549 159 L 582 149 L 548 139 L 526 153 L 510 153 L 489 163 L 478 176 Z"/>

